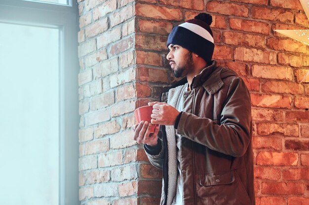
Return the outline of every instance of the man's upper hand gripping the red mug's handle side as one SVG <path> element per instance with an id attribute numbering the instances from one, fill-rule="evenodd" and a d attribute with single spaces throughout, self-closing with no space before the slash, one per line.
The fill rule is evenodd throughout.
<path id="1" fill-rule="evenodd" d="M 153 106 L 151 123 L 161 125 L 175 125 L 175 121 L 180 112 L 173 106 L 162 102 L 150 102 L 148 105 Z"/>

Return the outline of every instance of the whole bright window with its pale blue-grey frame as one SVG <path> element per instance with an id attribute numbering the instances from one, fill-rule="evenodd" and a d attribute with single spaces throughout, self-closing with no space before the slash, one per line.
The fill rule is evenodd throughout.
<path id="1" fill-rule="evenodd" d="M 0 1 L 1 204 L 79 204 L 72 3 Z"/>

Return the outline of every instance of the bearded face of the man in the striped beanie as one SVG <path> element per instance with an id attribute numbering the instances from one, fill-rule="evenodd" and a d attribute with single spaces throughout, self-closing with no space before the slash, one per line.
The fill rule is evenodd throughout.
<path id="1" fill-rule="evenodd" d="M 168 46 L 169 53 L 166 59 L 170 61 L 170 66 L 175 77 L 184 77 L 193 69 L 192 52 L 179 46 L 170 44 Z"/>

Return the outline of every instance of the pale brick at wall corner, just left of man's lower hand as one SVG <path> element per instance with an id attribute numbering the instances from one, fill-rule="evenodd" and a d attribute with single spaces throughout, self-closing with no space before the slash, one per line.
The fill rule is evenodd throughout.
<path id="1" fill-rule="evenodd" d="M 135 145 L 136 142 L 133 139 L 134 131 L 132 129 L 115 134 L 111 138 L 111 149 L 120 149 Z"/>

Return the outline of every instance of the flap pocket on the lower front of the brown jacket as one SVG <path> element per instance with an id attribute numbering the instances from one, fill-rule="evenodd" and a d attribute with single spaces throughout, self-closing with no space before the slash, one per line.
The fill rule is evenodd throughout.
<path id="1" fill-rule="evenodd" d="M 232 171 L 195 175 L 197 205 L 251 205 L 250 198 Z"/>

